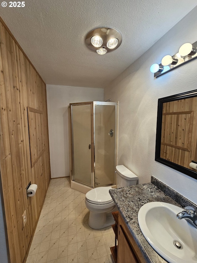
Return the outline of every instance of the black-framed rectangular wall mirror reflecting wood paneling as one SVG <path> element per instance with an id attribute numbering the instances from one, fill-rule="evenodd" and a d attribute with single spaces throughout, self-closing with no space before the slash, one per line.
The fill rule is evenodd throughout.
<path id="1" fill-rule="evenodd" d="M 158 100 L 155 161 L 197 179 L 197 90 Z"/>

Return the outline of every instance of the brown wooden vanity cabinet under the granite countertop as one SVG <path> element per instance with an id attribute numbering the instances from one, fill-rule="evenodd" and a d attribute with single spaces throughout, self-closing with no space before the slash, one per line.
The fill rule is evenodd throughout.
<path id="1" fill-rule="evenodd" d="M 117 249 L 116 253 L 112 253 L 114 261 L 117 263 L 146 263 L 138 245 L 136 244 L 131 232 L 127 228 L 122 216 L 118 213 L 118 222 L 116 221 L 118 227 L 117 247 L 111 248 L 111 252 Z M 112 228 L 115 230 L 114 225 Z"/>

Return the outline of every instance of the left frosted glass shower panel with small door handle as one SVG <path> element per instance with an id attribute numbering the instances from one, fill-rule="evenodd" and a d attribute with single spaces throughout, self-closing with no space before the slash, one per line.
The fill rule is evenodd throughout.
<path id="1" fill-rule="evenodd" d="M 71 105 L 71 114 L 73 179 L 92 187 L 91 104 Z"/>

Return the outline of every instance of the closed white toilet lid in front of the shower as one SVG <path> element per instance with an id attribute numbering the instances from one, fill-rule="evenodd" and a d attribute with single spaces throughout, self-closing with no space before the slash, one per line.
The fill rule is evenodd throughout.
<path id="1" fill-rule="evenodd" d="M 111 186 L 94 188 L 86 193 L 86 199 L 88 199 L 90 203 L 111 203 L 113 200 L 109 194 L 110 189 Z"/>

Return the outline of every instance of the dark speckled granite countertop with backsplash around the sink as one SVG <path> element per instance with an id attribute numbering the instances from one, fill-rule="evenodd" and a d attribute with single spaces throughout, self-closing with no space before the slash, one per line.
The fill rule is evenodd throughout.
<path id="1" fill-rule="evenodd" d="M 153 180 L 152 180 L 153 179 Z M 167 262 L 149 245 L 145 237 L 143 236 L 139 224 L 138 224 L 138 211 L 145 204 L 149 202 L 165 202 L 171 203 L 179 207 L 184 207 L 187 205 L 194 205 L 188 199 L 175 192 L 170 187 L 167 187 L 159 180 L 154 177 L 151 178 L 153 183 L 144 183 L 135 186 L 121 187 L 117 189 L 110 189 L 109 193 L 115 202 L 120 214 L 122 215 L 125 223 L 132 236 L 134 237 L 137 245 L 139 246 L 144 258 L 149 263 L 163 263 Z M 161 191 L 158 187 L 163 184 Z M 170 190 L 169 190 L 170 189 Z M 171 191 L 172 190 L 172 191 Z M 169 195 L 172 196 L 177 203 Z M 180 205 L 181 204 L 181 205 Z M 195 205 L 194 205 L 195 206 Z"/>

